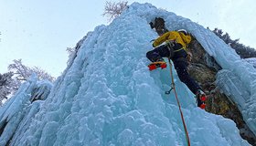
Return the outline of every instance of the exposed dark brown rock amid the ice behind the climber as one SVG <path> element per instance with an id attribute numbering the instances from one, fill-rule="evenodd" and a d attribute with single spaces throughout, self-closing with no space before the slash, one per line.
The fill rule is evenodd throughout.
<path id="1" fill-rule="evenodd" d="M 150 26 L 152 29 L 155 28 L 159 36 L 168 31 L 165 27 L 165 20 L 161 17 L 156 17 Z M 213 57 L 208 55 L 196 38 L 192 38 L 188 48 L 193 55 L 188 72 L 208 96 L 206 111 L 233 120 L 240 129 L 241 137 L 249 141 L 251 145 L 256 145 L 256 137 L 242 119 L 240 110 L 225 94 L 220 92 L 215 84 L 216 75 L 221 67 Z"/>

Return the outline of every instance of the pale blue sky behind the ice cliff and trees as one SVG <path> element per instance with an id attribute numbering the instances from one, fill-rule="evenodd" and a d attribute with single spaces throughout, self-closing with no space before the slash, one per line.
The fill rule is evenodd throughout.
<path id="1" fill-rule="evenodd" d="M 129 0 L 128 5 L 133 2 Z M 232 39 L 240 38 L 240 43 L 256 48 L 253 0 L 136 2 L 151 3 L 210 29 L 221 28 Z M 0 0 L 0 73 L 7 71 L 12 60 L 22 58 L 25 65 L 58 77 L 66 68 L 66 48 L 75 47 L 95 26 L 108 25 L 101 16 L 104 5 L 105 0 Z"/>

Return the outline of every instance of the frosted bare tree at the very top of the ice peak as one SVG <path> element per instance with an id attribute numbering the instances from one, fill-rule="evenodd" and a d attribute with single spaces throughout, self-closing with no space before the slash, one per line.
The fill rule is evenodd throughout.
<path id="1" fill-rule="evenodd" d="M 103 16 L 109 17 L 109 20 L 112 21 L 112 19 L 122 14 L 123 10 L 127 7 L 127 4 L 127 1 L 118 3 L 107 1 Z"/>

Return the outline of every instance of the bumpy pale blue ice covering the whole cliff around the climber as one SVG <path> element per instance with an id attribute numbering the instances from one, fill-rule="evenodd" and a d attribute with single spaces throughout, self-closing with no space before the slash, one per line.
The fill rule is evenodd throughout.
<path id="1" fill-rule="evenodd" d="M 1 145 L 187 145 L 175 95 L 165 95 L 171 83 L 169 67 L 152 72 L 146 67 L 145 53 L 157 37 L 148 25 L 155 16 L 164 17 L 170 30 L 186 28 L 196 36 L 224 71 L 240 79 L 253 104 L 255 70 L 217 36 L 187 18 L 133 3 L 109 26 L 97 26 L 83 38 L 77 56 L 45 100 L 28 102 L 38 89 L 32 77 L 6 102 L 0 109 L 1 129 L 3 120 L 7 122 Z M 232 120 L 198 109 L 176 71 L 174 76 L 191 145 L 249 145 Z M 50 87 L 44 85 L 40 95 Z M 248 123 L 255 123 L 251 113 Z"/>

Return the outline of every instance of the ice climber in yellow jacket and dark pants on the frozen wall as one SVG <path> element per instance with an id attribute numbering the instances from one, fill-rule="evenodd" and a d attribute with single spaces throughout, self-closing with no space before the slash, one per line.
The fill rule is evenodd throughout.
<path id="1" fill-rule="evenodd" d="M 191 60 L 192 57 L 192 54 L 187 52 L 187 45 L 190 41 L 191 36 L 185 29 L 167 31 L 155 39 L 153 43 L 153 47 L 155 48 L 148 51 L 146 57 L 152 62 L 165 62 L 163 57 L 170 57 L 176 68 L 178 78 L 196 95 L 197 107 L 205 109 L 206 95 L 195 79 L 189 76 L 187 71 L 188 60 Z M 161 45 L 164 42 L 165 44 Z"/>

